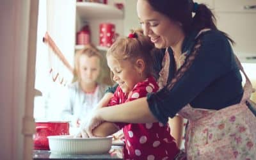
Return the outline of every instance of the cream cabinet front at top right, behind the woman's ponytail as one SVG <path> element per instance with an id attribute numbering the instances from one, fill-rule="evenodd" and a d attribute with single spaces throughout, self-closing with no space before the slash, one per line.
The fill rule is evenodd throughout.
<path id="1" fill-rule="evenodd" d="M 237 54 L 256 55 L 256 0 L 215 0 L 217 26 L 236 42 Z"/>

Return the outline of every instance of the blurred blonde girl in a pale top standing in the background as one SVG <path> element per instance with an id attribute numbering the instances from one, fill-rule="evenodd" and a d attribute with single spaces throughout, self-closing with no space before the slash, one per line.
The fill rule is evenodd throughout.
<path id="1" fill-rule="evenodd" d="M 97 106 L 104 95 L 106 84 L 99 84 L 102 55 L 93 47 L 86 45 L 75 55 L 74 83 L 68 86 L 67 99 L 61 111 L 63 120 L 71 120 L 73 127 L 78 127 L 81 118 Z"/>

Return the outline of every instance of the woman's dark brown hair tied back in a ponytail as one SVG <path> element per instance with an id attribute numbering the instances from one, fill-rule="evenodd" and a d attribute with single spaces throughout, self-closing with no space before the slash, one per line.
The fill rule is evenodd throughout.
<path id="1" fill-rule="evenodd" d="M 216 30 L 216 18 L 211 10 L 205 4 L 198 4 L 195 10 L 195 16 L 192 17 L 194 8 L 193 0 L 147 0 L 152 8 L 172 20 L 180 22 L 186 35 L 191 31 L 200 31 L 204 28 Z M 221 31 L 222 32 L 222 31 Z M 228 37 L 228 40 L 234 44 L 234 41 Z"/>

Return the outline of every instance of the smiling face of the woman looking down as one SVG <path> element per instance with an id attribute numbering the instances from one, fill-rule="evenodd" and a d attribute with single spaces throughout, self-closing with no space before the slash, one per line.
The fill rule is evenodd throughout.
<path id="1" fill-rule="evenodd" d="M 137 13 L 144 35 L 159 49 L 173 46 L 183 34 L 179 22 L 170 20 L 162 13 L 153 10 L 146 0 L 137 1 Z"/>

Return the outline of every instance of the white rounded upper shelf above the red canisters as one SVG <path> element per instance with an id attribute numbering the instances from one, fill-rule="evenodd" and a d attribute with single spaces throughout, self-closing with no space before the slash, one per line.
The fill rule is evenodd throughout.
<path id="1" fill-rule="evenodd" d="M 123 19 L 124 13 L 114 6 L 101 3 L 77 2 L 77 14 L 81 19 Z"/>

